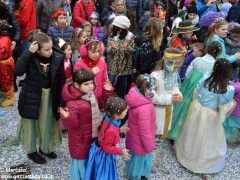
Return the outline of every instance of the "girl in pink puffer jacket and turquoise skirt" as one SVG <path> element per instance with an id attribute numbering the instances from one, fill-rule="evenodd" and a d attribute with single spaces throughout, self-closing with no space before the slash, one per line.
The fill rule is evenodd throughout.
<path id="1" fill-rule="evenodd" d="M 136 79 L 126 96 L 129 106 L 126 148 L 129 149 L 131 160 L 127 161 L 129 179 L 149 177 L 152 168 L 152 155 L 155 148 L 156 113 L 153 98 L 153 83 L 150 75 L 142 74 Z"/>

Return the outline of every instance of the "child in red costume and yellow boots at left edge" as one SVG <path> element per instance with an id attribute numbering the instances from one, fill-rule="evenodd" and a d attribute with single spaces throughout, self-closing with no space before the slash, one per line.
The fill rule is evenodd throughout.
<path id="1" fill-rule="evenodd" d="M 8 32 L 11 26 L 6 20 L 0 20 L 0 106 L 13 106 L 15 103 L 12 58 L 12 41 Z"/>

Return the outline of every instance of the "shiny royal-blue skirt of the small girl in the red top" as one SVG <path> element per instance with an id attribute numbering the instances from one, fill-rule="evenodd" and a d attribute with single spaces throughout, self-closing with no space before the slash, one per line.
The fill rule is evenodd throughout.
<path id="1" fill-rule="evenodd" d="M 117 180 L 116 155 L 108 154 L 95 142 L 89 152 L 85 180 Z"/>

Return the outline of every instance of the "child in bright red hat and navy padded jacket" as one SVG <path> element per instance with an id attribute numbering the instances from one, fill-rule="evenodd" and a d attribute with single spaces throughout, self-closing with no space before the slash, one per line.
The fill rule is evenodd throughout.
<path id="1" fill-rule="evenodd" d="M 62 8 L 58 8 L 52 18 L 55 22 L 49 27 L 48 35 L 51 37 L 53 45 L 58 45 L 59 38 L 70 42 L 74 29 L 72 26 L 67 25 L 67 12 Z"/>

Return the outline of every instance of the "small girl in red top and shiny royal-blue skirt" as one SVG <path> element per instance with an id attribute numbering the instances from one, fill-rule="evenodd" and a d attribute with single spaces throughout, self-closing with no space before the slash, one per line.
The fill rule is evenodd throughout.
<path id="1" fill-rule="evenodd" d="M 119 97 L 110 97 L 105 105 L 106 115 L 103 118 L 98 139 L 92 143 L 85 179 L 117 180 L 116 155 L 130 159 L 126 148 L 117 147 L 120 132 L 128 132 L 128 127 L 121 127 L 121 119 L 127 114 L 127 104 Z"/>

